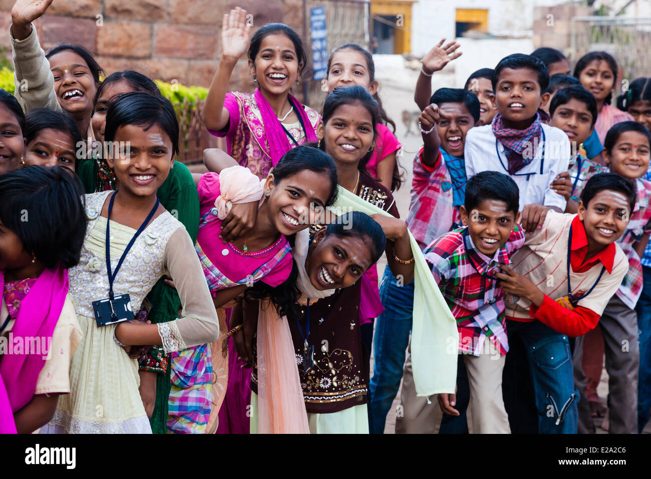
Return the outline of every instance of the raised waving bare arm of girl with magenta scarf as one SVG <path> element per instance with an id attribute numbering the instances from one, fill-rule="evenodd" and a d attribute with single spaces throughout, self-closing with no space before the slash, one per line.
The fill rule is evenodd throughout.
<path id="1" fill-rule="evenodd" d="M 208 130 L 223 130 L 229 123 L 229 111 L 224 108 L 226 89 L 238 59 L 249 48 L 250 30 L 251 25 L 248 25 L 246 20 L 246 10 L 238 7 L 236 10 L 230 10 L 230 15 L 224 14 L 221 29 L 221 61 L 210 83 L 202 112 L 202 120 Z"/>

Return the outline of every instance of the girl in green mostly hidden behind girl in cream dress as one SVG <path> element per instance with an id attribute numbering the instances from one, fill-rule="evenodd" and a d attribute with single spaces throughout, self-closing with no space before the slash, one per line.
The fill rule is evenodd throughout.
<path id="1" fill-rule="evenodd" d="M 91 119 L 95 138 L 102 145 L 104 142 L 104 126 L 106 110 L 111 98 L 120 93 L 130 91 L 145 91 L 159 95 L 156 84 L 146 76 L 125 70 L 108 76 L 98 87 L 94 98 L 94 109 Z M 102 160 L 102 149 L 94 145 L 92 158 L 81 160 L 77 168 L 79 179 L 86 193 L 93 193 L 117 188 L 115 175 Z M 171 212 L 187 229 L 192 242 L 197 240 L 199 229 L 199 196 L 197 186 L 187 167 L 175 162 L 169 176 L 158 188 L 158 199 L 166 210 Z M 178 317 L 181 301 L 178 293 L 172 287 L 160 280 L 147 295 L 150 307 L 147 313 L 148 321 L 166 323 Z M 145 404 L 145 411 L 150 415 L 150 424 L 154 434 L 164 434 L 167 431 L 167 401 L 171 388 L 169 356 L 163 349 L 152 347 L 146 355 L 139 359 L 140 364 L 140 394 Z"/>

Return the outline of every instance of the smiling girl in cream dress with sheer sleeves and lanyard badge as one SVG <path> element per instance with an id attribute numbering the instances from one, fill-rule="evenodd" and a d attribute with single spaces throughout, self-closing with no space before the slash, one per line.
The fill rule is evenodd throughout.
<path id="1" fill-rule="evenodd" d="M 81 261 L 70 270 L 70 296 L 83 340 L 70 368 L 72 390 L 46 426 L 50 433 L 150 433 L 138 391 L 138 364 L 126 345 L 161 345 L 168 354 L 212 342 L 219 334 L 192 241 L 156 196 L 178 153 L 172 104 L 148 93 L 120 96 L 109 106 L 105 139 L 130 147 L 108 159 L 120 189 L 86 196 L 86 239 Z M 168 272 L 182 298 L 181 319 L 99 325 L 105 314 L 94 301 L 113 299 L 112 311 L 113 304 L 136 311 Z"/>

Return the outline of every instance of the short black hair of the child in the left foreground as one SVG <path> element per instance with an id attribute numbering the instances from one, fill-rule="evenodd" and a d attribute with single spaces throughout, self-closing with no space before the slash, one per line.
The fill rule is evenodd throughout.
<path id="1" fill-rule="evenodd" d="M 79 263 L 87 220 L 83 187 L 70 169 L 33 165 L 1 175 L 0 220 L 46 268 Z"/>

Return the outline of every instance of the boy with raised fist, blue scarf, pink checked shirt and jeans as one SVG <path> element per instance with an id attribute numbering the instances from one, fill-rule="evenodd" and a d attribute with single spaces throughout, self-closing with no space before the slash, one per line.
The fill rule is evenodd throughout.
<path id="1" fill-rule="evenodd" d="M 479 100 L 464 89 L 441 88 L 419 118 L 423 147 L 413 162 L 407 225 L 424 248 L 461 224 L 465 195 L 464 140 L 479 121 Z M 401 284 L 386 269 L 380 283 L 384 312 L 374 332 L 374 373 L 370 380 L 370 432 L 381 434 L 400 387 L 409 342 L 413 282 Z M 410 375 L 411 371 L 406 371 Z"/>

